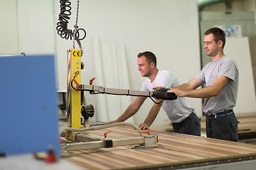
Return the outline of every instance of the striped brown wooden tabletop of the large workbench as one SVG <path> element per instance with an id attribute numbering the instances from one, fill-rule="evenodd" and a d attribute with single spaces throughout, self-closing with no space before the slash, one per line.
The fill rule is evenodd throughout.
<path id="1" fill-rule="evenodd" d="M 131 127 L 112 127 L 104 130 L 87 131 L 91 137 L 107 139 L 139 137 Z M 65 158 L 68 162 L 85 169 L 199 169 L 206 166 L 240 166 L 240 169 L 256 169 L 256 145 L 229 142 L 207 137 L 183 135 L 175 132 L 151 130 L 158 136 L 155 149 L 132 149 L 132 145 L 73 151 L 75 157 Z M 245 166 L 246 164 L 246 166 Z M 235 169 L 233 167 L 233 169 Z M 230 168 L 230 167 L 229 167 Z"/>

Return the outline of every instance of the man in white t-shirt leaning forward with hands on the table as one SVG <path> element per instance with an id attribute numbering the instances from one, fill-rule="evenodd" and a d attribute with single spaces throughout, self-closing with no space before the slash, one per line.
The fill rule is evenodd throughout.
<path id="1" fill-rule="evenodd" d="M 179 85 L 178 78 L 173 73 L 156 68 L 156 56 L 152 52 L 139 53 L 137 64 L 142 77 L 146 77 L 142 84 L 142 91 L 153 91 L 153 88 L 156 86 L 171 88 Z M 117 120 L 113 120 L 107 124 L 127 120 L 137 113 L 145 100 L 146 97 L 138 96 Z M 149 129 L 149 126 L 154 122 L 156 115 L 159 113 L 160 108 L 163 107 L 172 122 L 175 132 L 201 136 L 200 119 L 194 113 L 194 109 L 188 106 L 186 98 L 177 98 L 174 101 L 166 100 L 161 101 L 161 103 L 159 103 L 160 101 L 158 99 L 154 101 L 155 103 L 151 107 L 149 114 L 144 120 L 144 123 L 139 125 L 139 128 L 142 130 Z"/>

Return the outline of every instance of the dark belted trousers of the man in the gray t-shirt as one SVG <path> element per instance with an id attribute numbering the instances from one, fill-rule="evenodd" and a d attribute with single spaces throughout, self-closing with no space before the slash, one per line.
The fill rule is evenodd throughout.
<path id="1" fill-rule="evenodd" d="M 238 142 L 238 123 L 234 113 L 206 119 L 207 137 Z"/>

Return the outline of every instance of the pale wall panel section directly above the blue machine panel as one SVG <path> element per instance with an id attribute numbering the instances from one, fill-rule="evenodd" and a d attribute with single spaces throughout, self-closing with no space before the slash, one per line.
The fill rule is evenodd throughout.
<path id="1" fill-rule="evenodd" d="M 26 54 L 54 54 L 53 1 L 23 0 L 17 3 L 20 51 Z"/>

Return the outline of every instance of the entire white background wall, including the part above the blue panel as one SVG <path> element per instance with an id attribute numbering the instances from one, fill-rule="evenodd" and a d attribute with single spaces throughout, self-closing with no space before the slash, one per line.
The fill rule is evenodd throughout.
<path id="1" fill-rule="evenodd" d="M 71 2 L 73 9 L 68 28 L 73 29 L 77 1 L 71 0 Z M 56 34 L 55 26 L 60 12 L 59 1 L 10 0 L 1 4 L 3 4 L 0 7 L 1 21 L 6 24 L 1 27 L 0 55 L 15 55 L 21 52 L 55 54 L 57 88 L 65 90 L 67 50 L 73 43 Z M 128 83 L 118 86 L 121 89 L 140 90 L 144 78 L 140 77 L 137 71 L 137 54 L 146 50 L 155 53 L 159 69 L 171 70 L 181 82 L 191 80 L 201 69 L 196 0 L 80 0 L 78 26 L 87 31 L 87 37 L 82 40 L 84 50 L 82 62 L 85 64 L 85 69 L 82 70 L 82 84 L 89 84 L 89 80 L 96 77 L 95 85 L 117 88 L 115 84 L 107 84 L 106 81 L 106 79 L 116 79 L 115 75 L 111 74 L 113 72 L 107 72 L 107 77 L 100 74 L 102 71 L 99 69 L 102 69 L 102 65 L 100 60 L 97 60 L 97 56 L 100 56 L 104 57 L 105 61 L 114 61 L 112 55 L 119 57 L 119 53 L 113 52 L 113 49 L 121 50 L 122 61 L 127 61 L 127 73 L 122 77 L 127 79 Z M 104 65 L 105 62 L 101 64 Z M 113 62 L 109 64 L 107 68 L 117 67 Z M 123 96 L 129 98 L 126 106 L 122 106 L 118 113 L 117 110 L 110 113 L 112 106 L 116 106 L 114 101 L 118 99 L 114 99 L 114 96 L 105 97 L 105 100 L 112 104 L 105 111 L 99 103 L 101 97 L 102 95 L 91 96 L 85 92 L 86 102 L 92 103 L 96 109 L 93 119 L 100 121 L 117 118 L 134 100 L 134 97 Z M 189 101 L 191 106 L 196 108 L 198 115 L 201 115 L 201 99 L 189 99 Z M 139 113 L 134 116 L 134 120 L 129 121 L 137 125 L 141 123 L 152 104 L 150 100 L 146 100 Z M 167 119 L 167 116 L 161 111 L 155 124 L 163 123 L 164 119 Z"/>

